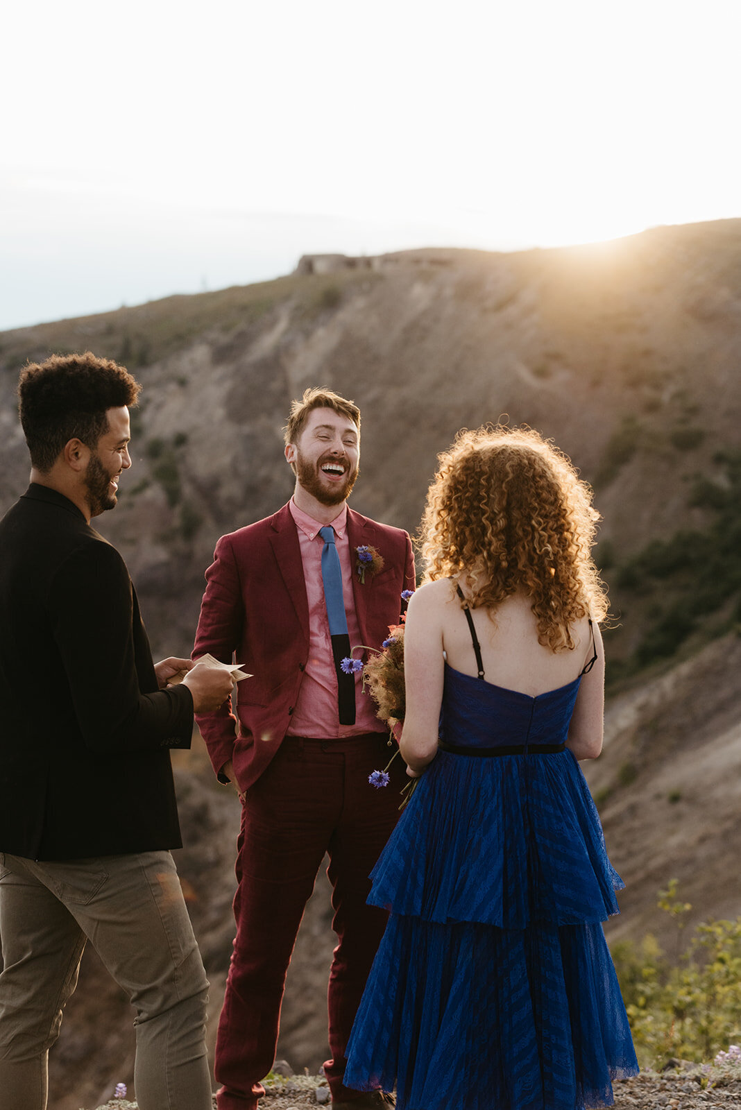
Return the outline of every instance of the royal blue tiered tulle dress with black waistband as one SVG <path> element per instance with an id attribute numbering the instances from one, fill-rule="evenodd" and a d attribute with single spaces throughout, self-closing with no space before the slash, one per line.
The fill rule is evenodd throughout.
<path id="1" fill-rule="evenodd" d="M 480 656 L 479 678 L 446 664 L 445 747 L 372 872 L 392 915 L 347 1087 L 396 1086 L 398 1110 L 581 1110 L 638 1072 L 601 926 L 623 884 L 577 760 L 552 750 L 580 680 L 530 697 Z"/>

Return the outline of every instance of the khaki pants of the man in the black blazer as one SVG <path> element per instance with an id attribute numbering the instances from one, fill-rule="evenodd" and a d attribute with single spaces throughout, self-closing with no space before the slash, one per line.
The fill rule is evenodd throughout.
<path id="1" fill-rule="evenodd" d="M 169 851 L 0 854 L 0 1110 L 44 1110 L 49 1048 L 87 939 L 136 1008 L 140 1110 L 211 1110 L 209 982 Z"/>

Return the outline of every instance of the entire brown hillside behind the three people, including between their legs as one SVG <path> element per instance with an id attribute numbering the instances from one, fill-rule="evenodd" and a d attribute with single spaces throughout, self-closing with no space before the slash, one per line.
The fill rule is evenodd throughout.
<path id="1" fill-rule="evenodd" d="M 588 777 L 628 882 L 610 936 L 662 928 L 654 894 L 674 876 L 696 915 L 741 914 L 723 878 L 741 847 L 741 221 L 569 250 L 305 260 L 274 282 L 2 333 L 0 512 L 28 480 L 20 367 L 87 347 L 144 385 L 133 467 L 97 523 L 126 557 L 158 654 L 190 652 L 217 537 L 290 495 L 281 428 L 306 385 L 362 407 L 353 506 L 412 532 L 459 427 L 506 413 L 552 436 L 605 517 L 612 699 Z M 238 807 L 199 748 L 177 780 L 179 867 L 216 1015 Z M 284 1010 L 280 1051 L 297 1069 L 324 1058 L 328 921 L 322 878 Z M 129 1022 L 85 957 L 55 1051 L 58 1110 L 130 1079 Z"/>

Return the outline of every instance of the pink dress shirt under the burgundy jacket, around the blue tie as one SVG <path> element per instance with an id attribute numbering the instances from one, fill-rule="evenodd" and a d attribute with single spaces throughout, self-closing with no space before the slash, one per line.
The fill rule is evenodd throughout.
<path id="1" fill-rule="evenodd" d="M 298 546 L 304 567 L 306 583 L 306 601 L 308 603 L 308 660 L 301 683 L 298 699 L 291 717 L 291 727 L 286 736 L 312 736 L 317 739 L 336 740 L 344 736 L 359 736 L 362 733 L 383 733 L 386 726 L 376 717 L 375 705 L 363 690 L 362 674 L 355 676 L 355 724 L 341 725 L 337 712 L 337 674 L 332 655 L 329 622 L 324 601 L 322 583 L 322 549 L 324 541 L 318 534 L 323 527 L 318 521 L 298 508 L 293 497 L 288 502 L 298 533 Z M 347 539 L 347 504 L 343 503 L 341 512 L 332 527 L 335 529 L 335 544 L 342 567 L 343 596 L 347 616 L 347 632 L 351 647 L 361 644 L 361 629 L 355 615 L 353 594 L 353 558 Z M 353 658 L 359 658 L 362 650 L 353 653 Z"/>

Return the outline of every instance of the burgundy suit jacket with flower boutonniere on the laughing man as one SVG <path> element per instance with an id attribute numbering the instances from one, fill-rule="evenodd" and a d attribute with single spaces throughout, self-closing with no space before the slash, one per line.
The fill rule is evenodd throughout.
<path id="1" fill-rule="evenodd" d="M 366 575 L 365 583 L 353 575 L 361 642 L 380 647 L 389 624 L 398 624 L 402 591 L 415 587 L 412 542 L 400 528 L 351 508 L 347 536 L 351 548 L 366 544 L 384 559 L 383 571 Z M 283 741 L 308 658 L 304 568 L 288 506 L 222 536 L 206 583 L 193 657 L 205 652 L 223 663 L 234 657 L 253 677 L 237 684 L 236 716 L 227 702 L 196 719 L 216 774 L 231 759 L 246 790 Z"/>

